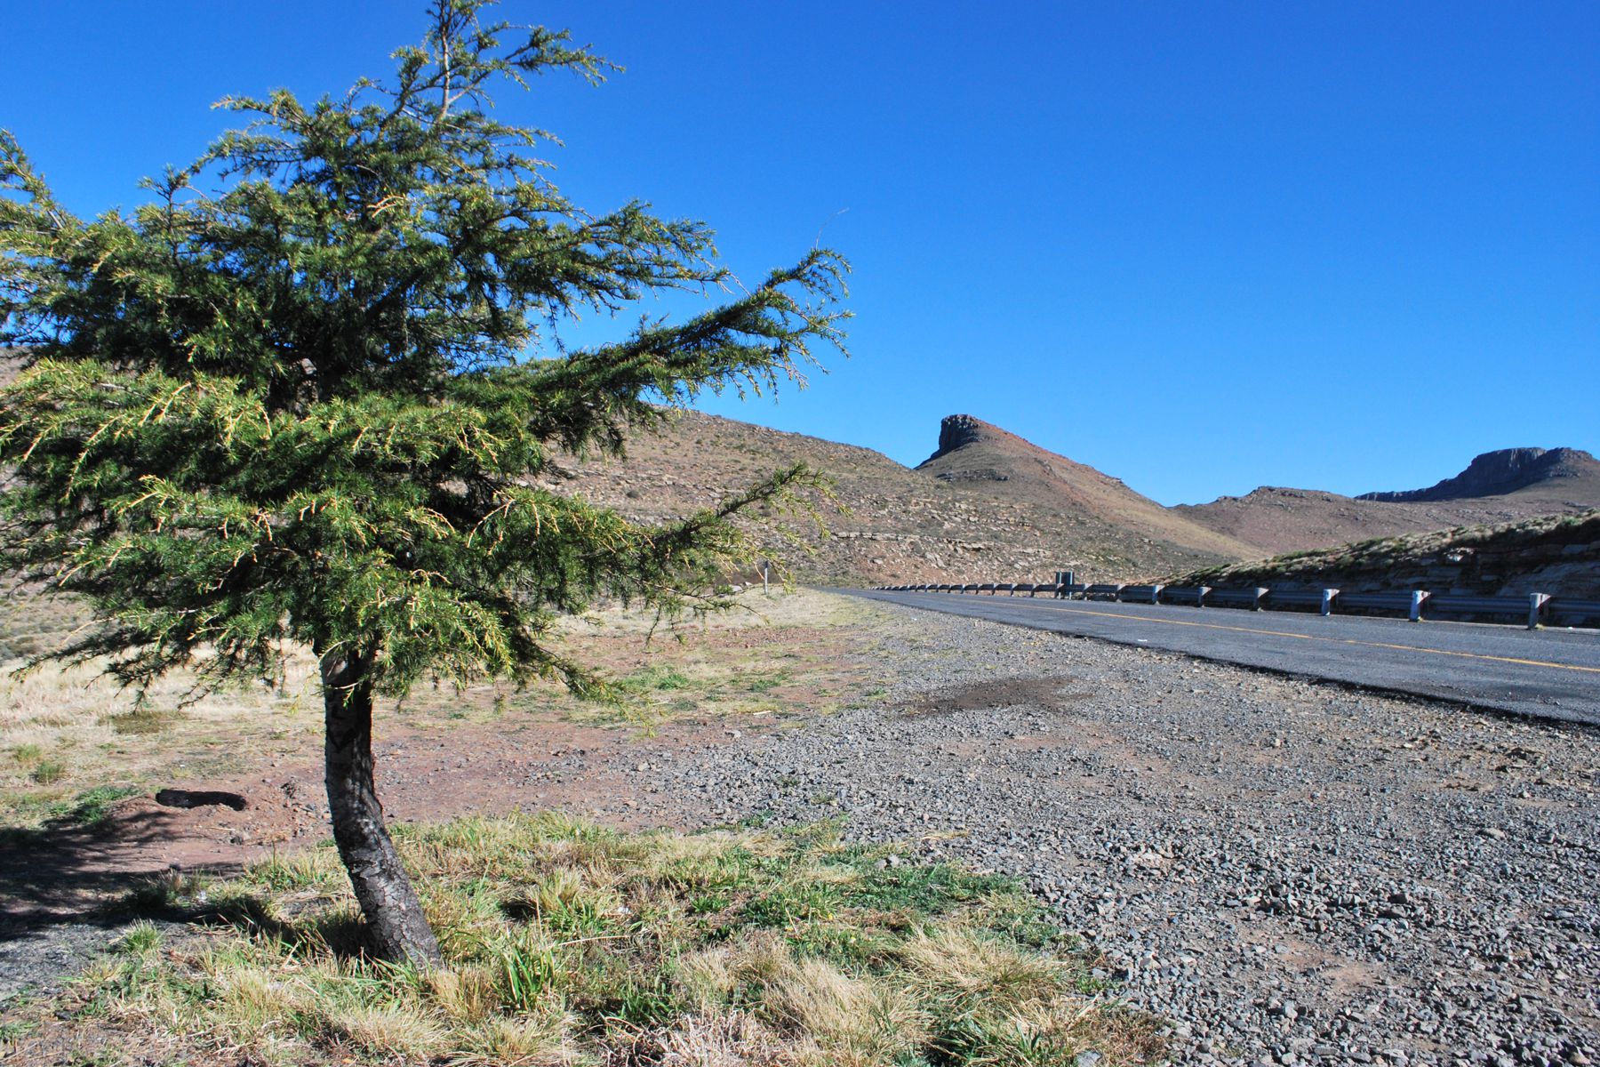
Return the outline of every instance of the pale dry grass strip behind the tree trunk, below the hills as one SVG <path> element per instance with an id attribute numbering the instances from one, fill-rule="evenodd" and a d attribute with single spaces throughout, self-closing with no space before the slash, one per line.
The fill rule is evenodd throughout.
<path id="1" fill-rule="evenodd" d="M 419 686 L 398 707 L 381 709 L 379 729 L 400 721 L 448 731 L 461 723 L 552 713 L 621 725 L 658 725 L 683 713 L 782 715 L 802 702 L 806 710 L 826 710 L 866 688 L 842 677 L 837 659 L 814 645 L 818 633 L 843 635 L 877 608 L 776 589 L 749 590 L 739 603 L 738 611 L 653 637 L 654 621 L 640 611 L 610 608 L 589 619 L 563 621 L 562 640 L 573 656 L 582 659 L 598 641 L 611 651 L 626 648 L 630 662 L 646 664 L 614 672 L 622 691 L 619 707 L 584 704 L 555 685 L 525 691 L 496 685 L 462 691 Z M 34 609 L 53 613 L 51 619 L 75 619 L 54 601 L 34 598 L 13 609 L 13 624 L 18 611 Z M 40 627 L 50 629 L 46 622 Z M 731 648 L 707 643 L 707 635 L 714 640 L 738 632 L 750 632 L 752 640 Z M 806 635 L 811 645 L 794 635 Z M 194 677 L 174 673 L 155 683 L 141 707 L 134 707 L 133 693 L 99 677 L 93 664 L 46 664 L 19 677 L 24 662 L 0 661 L 0 822 L 6 825 L 37 825 L 91 787 L 142 790 L 234 777 L 275 760 L 315 760 L 320 752 L 322 699 L 315 662 L 306 649 L 291 649 L 280 686 L 243 683 L 186 702 Z M 789 686 L 803 686 L 805 693 L 790 693 Z"/>

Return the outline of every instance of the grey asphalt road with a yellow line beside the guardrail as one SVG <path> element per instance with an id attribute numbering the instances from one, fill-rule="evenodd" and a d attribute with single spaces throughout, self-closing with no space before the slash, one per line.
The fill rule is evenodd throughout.
<path id="1" fill-rule="evenodd" d="M 1600 725 L 1600 632 L 987 593 L 854 597 Z"/>

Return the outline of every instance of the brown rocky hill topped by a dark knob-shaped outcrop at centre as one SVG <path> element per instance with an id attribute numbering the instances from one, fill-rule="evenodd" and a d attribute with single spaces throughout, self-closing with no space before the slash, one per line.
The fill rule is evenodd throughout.
<path id="1" fill-rule="evenodd" d="M 714 504 L 792 462 L 824 470 L 846 512 L 829 517 L 814 555 L 794 560 L 808 581 L 1048 581 L 1058 568 L 1131 579 L 1261 555 L 971 416 L 946 419 L 939 450 L 917 469 L 694 411 L 627 448 L 626 462 L 565 466 L 590 499 L 640 520 Z"/>

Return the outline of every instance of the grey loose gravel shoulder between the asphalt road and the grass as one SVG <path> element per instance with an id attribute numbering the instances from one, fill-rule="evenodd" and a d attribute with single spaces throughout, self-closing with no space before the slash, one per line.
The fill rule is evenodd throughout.
<path id="1" fill-rule="evenodd" d="M 890 611 L 877 704 L 645 745 L 635 814 L 1021 875 L 1178 1062 L 1600 1057 L 1600 731 Z"/>

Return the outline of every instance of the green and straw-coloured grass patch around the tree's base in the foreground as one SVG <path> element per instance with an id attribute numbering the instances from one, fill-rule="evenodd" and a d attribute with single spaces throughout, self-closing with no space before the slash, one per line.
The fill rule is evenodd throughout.
<path id="1" fill-rule="evenodd" d="M 1091 992 L 1085 961 L 1002 878 L 880 865 L 885 849 L 822 830 L 627 835 L 546 814 L 398 840 L 445 969 L 354 953 L 323 849 L 206 886 L 232 928 L 200 945 L 130 934 L 38 1022 L 101 1021 L 114 1054 L 285 1067 L 330 1053 L 370 1067 L 1066 1067 L 1088 1048 L 1117 1067 L 1160 1053 L 1152 1022 Z"/>

